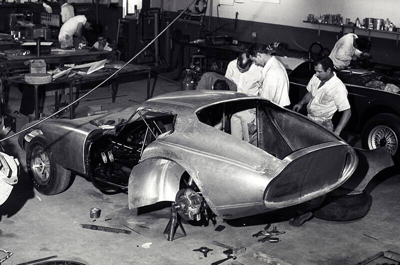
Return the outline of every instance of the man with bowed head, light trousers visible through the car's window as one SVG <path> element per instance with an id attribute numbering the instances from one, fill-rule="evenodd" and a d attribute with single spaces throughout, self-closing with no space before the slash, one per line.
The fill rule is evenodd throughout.
<path id="1" fill-rule="evenodd" d="M 258 96 L 261 86 L 261 68 L 254 65 L 246 52 L 229 62 L 225 77 L 237 86 L 237 92 Z M 244 141 L 249 140 L 247 124 L 253 122 L 255 114 L 250 110 L 236 112 L 230 118 L 230 134 Z"/>

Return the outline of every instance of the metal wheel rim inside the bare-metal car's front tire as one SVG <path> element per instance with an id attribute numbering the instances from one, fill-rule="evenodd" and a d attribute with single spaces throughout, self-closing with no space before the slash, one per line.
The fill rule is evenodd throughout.
<path id="1" fill-rule="evenodd" d="M 40 184 L 46 183 L 51 177 L 51 162 L 47 151 L 40 145 L 32 150 L 30 157 L 31 171 L 33 177 Z"/>

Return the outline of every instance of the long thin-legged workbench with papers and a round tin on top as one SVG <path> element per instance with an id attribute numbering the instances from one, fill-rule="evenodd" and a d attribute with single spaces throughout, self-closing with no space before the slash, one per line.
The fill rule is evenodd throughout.
<path id="1" fill-rule="evenodd" d="M 123 62 L 120 62 L 120 63 L 123 63 Z M 80 69 L 80 70 L 85 70 L 85 69 Z M 71 77 L 64 77 L 64 78 L 60 77 L 60 78 L 53 80 L 51 83 L 43 85 L 43 86 L 48 87 L 48 86 L 52 86 L 52 85 L 68 85 L 69 86 L 69 103 L 71 103 L 73 101 L 73 86 L 74 85 L 82 85 L 82 84 L 95 83 L 95 82 L 100 83 L 100 82 L 104 81 L 107 77 L 111 76 L 116 71 L 117 71 L 117 69 L 108 68 L 107 64 L 106 64 L 105 68 L 97 70 L 96 72 L 91 73 L 90 75 L 76 74 Z M 151 68 L 148 66 L 128 64 L 125 68 L 123 68 L 121 71 L 119 71 L 118 74 L 113 76 L 108 81 L 108 85 L 110 85 L 111 91 L 112 91 L 112 95 L 111 95 L 112 102 L 115 102 L 115 97 L 116 97 L 116 93 L 118 90 L 117 78 L 120 76 L 127 76 L 127 75 L 147 74 L 147 98 L 150 98 L 150 73 L 151 73 Z M 39 119 L 39 117 L 40 117 L 39 97 L 38 97 L 39 86 L 26 83 L 23 75 L 17 76 L 17 77 L 12 77 L 12 78 L 8 79 L 8 84 L 11 86 L 12 85 L 25 85 L 28 87 L 32 87 L 34 89 L 34 113 L 35 113 L 35 119 Z M 78 91 L 76 91 L 76 98 L 78 98 Z M 77 105 L 77 103 L 76 103 L 76 105 Z M 75 107 L 76 107 L 75 105 L 72 105 L 69 108 L 69 118 L 70 119 L 74 118 Z"/>

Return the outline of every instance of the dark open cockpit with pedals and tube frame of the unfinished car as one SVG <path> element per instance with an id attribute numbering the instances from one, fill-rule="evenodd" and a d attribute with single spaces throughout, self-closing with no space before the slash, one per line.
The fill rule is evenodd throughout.
<path id="1" fill-rule="evenodd" d="M 172 129 L 174 116 L 139 119 L 116 135 L 98 134 L 88 148 L 88 176 L 100 190 L 127 189 L 130 171 L 156 137 Z"/>

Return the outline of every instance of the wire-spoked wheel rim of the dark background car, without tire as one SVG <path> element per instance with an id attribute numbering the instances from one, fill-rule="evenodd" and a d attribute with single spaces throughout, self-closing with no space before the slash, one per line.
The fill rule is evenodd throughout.
<path id="1" fill-rule="evenodd" d="M 398 148 L 398 139 L 391 128 L 385 125 L 378 125 L 369 132 L 368 148 L 375 149 L 377 147 L 382 147 L 391 155 L 396 153 Z"/>

